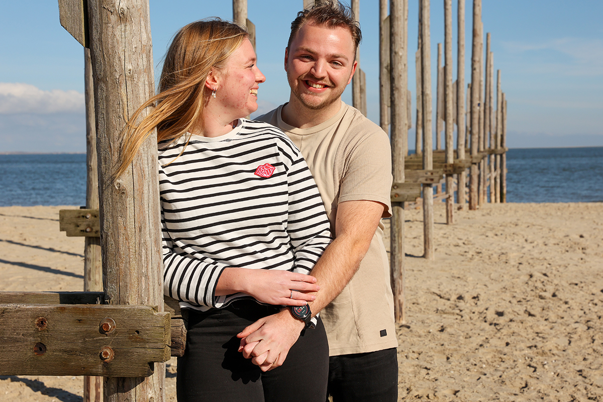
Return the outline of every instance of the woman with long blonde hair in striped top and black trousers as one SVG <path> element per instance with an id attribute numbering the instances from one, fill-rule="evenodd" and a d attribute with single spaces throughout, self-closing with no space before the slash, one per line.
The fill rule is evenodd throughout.
<path id="1" fill-rule="evenodd" d="M 186 25 L 166 54 L 159 94 L 125 128 L 116 175 L 157 128 L 164 291 L 189 309 L 179 401 L 326 398 L 320 319 L 273 370 L 238 351 L 236 334 L 244 327 L 314 300 L 309 292 L 319 287 L 308 273 L 330 242 L 323 203 L 298 149 L 277 128 L 244 119 L 257 109 L 265 80 L 255 62 L 238 25 Z M 264 357 L 284 359 L 270 351 Z"/>

